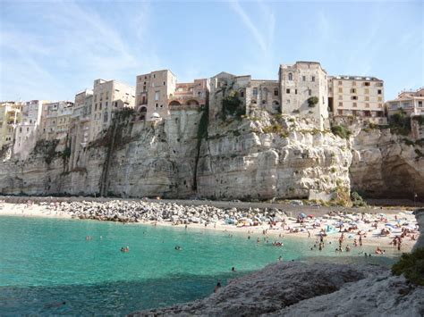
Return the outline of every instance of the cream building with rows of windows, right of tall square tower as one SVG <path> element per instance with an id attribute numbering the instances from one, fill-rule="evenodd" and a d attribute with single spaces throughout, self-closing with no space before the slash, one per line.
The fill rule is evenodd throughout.
<path id="1" fill-rule="evenodd" d="M 328 79 L 328 104 L 336 117 L 355 116 L 387 124 L 384 82 L 375 77 L 335 76 Z"/>

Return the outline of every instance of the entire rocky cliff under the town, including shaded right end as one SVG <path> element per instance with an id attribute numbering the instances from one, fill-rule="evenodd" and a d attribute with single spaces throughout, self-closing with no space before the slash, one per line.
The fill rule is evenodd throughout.
<path id="1" fill-rule="evenodd" d="M 25 160 L 4 152 L 0 193 L 328 200 L 352 188 L 424 197 L 420 145 L 388 129 L 350 129 L 349 141 L 308 119 L 261 111 L 212 123 L 208 109 L 191 107 L 159 122 L 127 115 L 84 148 L 38 142 Z"/>

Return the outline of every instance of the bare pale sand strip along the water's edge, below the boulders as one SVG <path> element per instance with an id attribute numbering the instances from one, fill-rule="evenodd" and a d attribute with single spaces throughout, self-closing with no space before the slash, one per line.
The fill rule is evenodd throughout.
<path id="1" fill-rule="evenodd" d="M 401 213 L 404 215 L 405 213 Z M 0 203 L 0 216 L 14 216 L 14 217 L 24 217 L 24 218 L 55 218 L 55 219 L 66 219 L 66 220 L 83 220 L 71 213 L 66 213 L 63 211 L 57 211 L 52 208 L 51 205 L 48 204 L 11 204 L 11 203 Z M 394 216 L 394 214 L 390 214 L 390 216 Z M 408 215 L 408 221 L 411 221 L 414 218 L 413 215 Z M 289 218 L 290 219 L 290 218 Z M 87 219 L 90 220 L 90 219 Z M 92 219 L 93 221 L 103 221 Z M 118 222 L 118 221 L 110 221 L 110 222 Z M 159 227 L 168 227 L 168 228 L 176 228 L 176 229 L 184 229 L 184 224 L 174 224 L 171 221 L 137 221 L 137 222 L 123 222 L 125 224 L 132 225 L 148 225 L 148 226 L 159 226 Z M 295 225 L 295 222 L 289 222 L 288 226 Z M 378 229 L 384 228 L 384 225 L 379 224 Z M 279 226 L 276 226 L 276 229 L 269 229 L 269 225 L 261 224 L 259 226 L 249 226 L 238 228 L 235 225 L 229 225 L 225 223 L 216 222 L 215 224 L 209 223 L 207 226 L 201 223 L 190 223 L 187 225 L 187 229 L 207 229 L 211 230 L 211 232 L 225 232 L 228 234 L 237 234 L 243 235 L 246 238 L 250 236 L 252 240 L 259 238 L 260 243 L 264 243 L 264 240 L 269 240 L 269 243 L 275 241 L 284 242 L 284 238 L 301 238 L 305 240 L 310 240 L 311 245 L 314 245 L 316 241 L 319 240 L 318 229 L 310 229 L 310 238 L 308 237 L 308 232 L 290 232 L 287 229 L 282 229 Z M 264 234 L 264 230 L 266 234 Z M 358 239 L 358 234 L 352 233 L 344 233 L 344 241 L 343 247 L 346 245 L 352 245 L 352 251 L 355 251 L 356 248 L 353 247 L 353 240 Z M 341 236 L 340 232 L 335 232 L 333 234 L 329 234 L 325 237 L 326 244 L 331 242 L 333 246 L 337 246 L 337 242 Z M 415 234 L 416 240 L 420 237 L 420 233 Z M 403 252 L 410 252 L 412 247 L 415 245 L 416 240 L 411 240 L 409 237 L 403 239 L 403 245 L 401 251 L 393 250 L 393 246 L 390 245 L 390 242 L 393 240 L 394 235 L 389 236 L 375 236 L 372 232 L 367 232 L 367 238 L 363 238 L 362 245 L 363 246 L 378 246 L 382 249 L 390 250 L 389 253 L 399 252 L 402 254 Z M 332 247 L 333 247 L 332 246 Z M 358 246 L 360 247 L 360 246 Z M 317 248 L 318 251 L 318 248 Z M 343 250 L 344 252 L 344 250 Z M 345 252 L 345 254 L 349 254 Z M 384 254 L 383 254 L 384 255 Z"/>

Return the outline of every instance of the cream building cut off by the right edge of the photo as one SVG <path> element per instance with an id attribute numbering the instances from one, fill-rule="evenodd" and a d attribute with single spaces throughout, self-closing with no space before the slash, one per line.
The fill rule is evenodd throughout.
<path id="1" fill-rule="evenodd" d="M 401 110 L 409 116 L 424 114 L 424 88 L 403 91 L 396 99 L 386 102 L 386 110 L 389 117 Z"/>

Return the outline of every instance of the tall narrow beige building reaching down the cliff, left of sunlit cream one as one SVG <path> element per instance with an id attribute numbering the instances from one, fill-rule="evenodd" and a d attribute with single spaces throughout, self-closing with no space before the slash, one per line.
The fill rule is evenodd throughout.
<path id="1" fill-rule="evenodd" d="M 93 91 L 85 89 L 75 95 L 75 104 L 71 116 L 69 138 L 71 145 L 71 169 L 84 166 L 80 162 L 81 150 L 89 143 L 89 131 L 91 125 L 91 106 L 93 104 Z"/>

